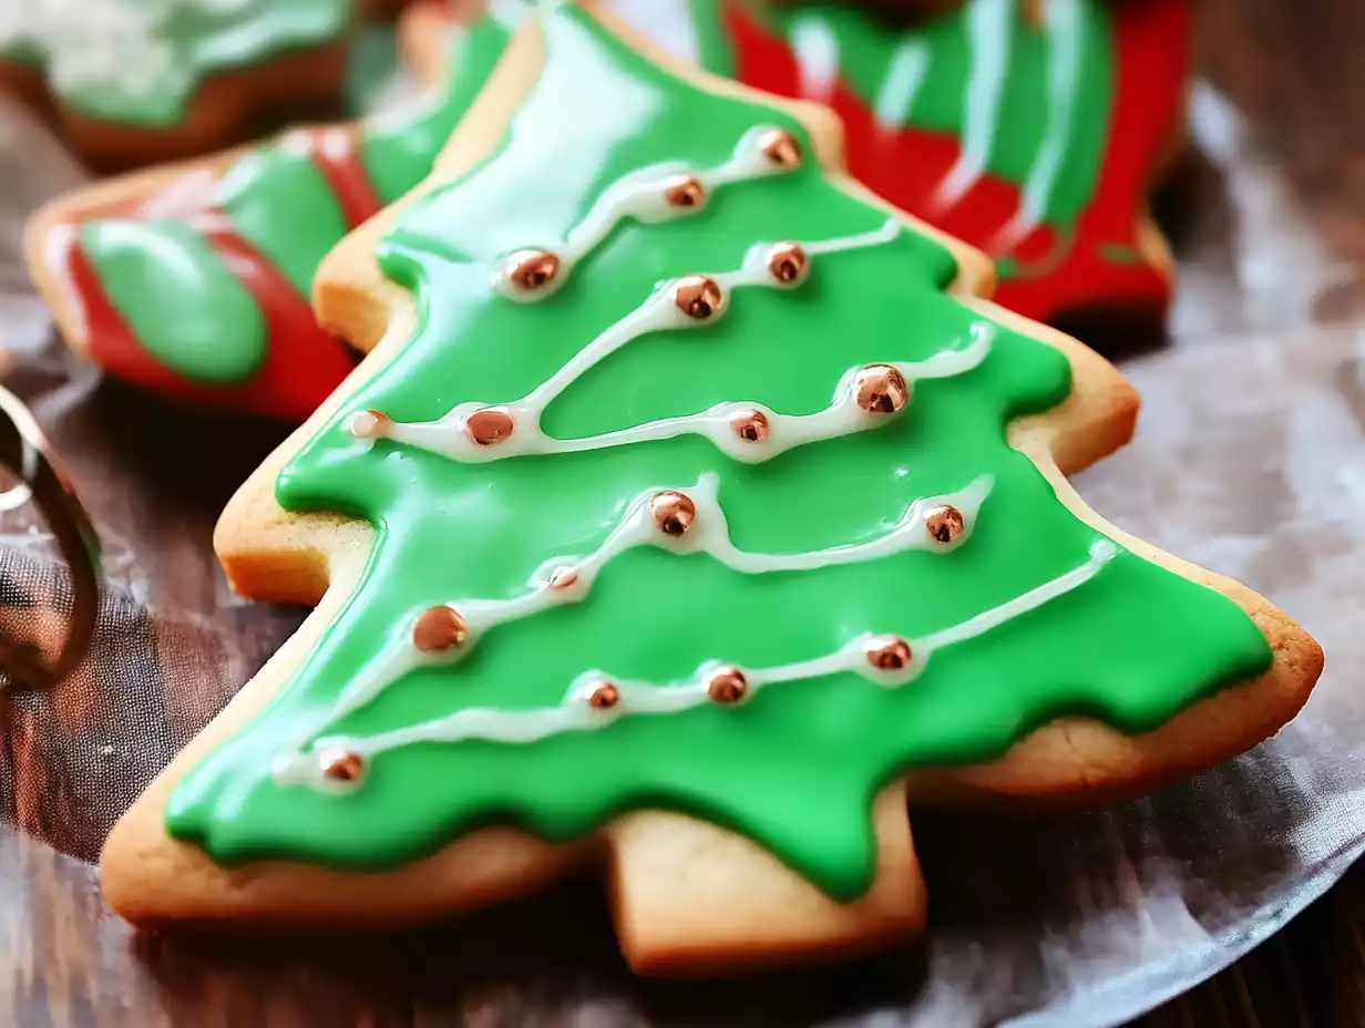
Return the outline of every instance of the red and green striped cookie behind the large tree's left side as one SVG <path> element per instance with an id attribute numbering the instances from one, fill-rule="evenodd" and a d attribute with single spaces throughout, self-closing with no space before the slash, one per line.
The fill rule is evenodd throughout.
<path id="1" fill-rule="evenodd" d="M 444 85 L 400 117 L 299 128 L 48 205 L 27 262 L 63 336 L 154 392 L 302 422 L 354 367 L 313 319 L 318 262 L 430 172 L 508 31 L 500 16 L 446 23 L 416 61 Z"/>

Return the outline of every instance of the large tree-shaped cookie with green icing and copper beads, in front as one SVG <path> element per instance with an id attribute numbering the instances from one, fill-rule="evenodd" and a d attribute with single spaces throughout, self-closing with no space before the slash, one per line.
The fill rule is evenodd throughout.
<path id="1" fill-rule="evenodd" d="M 545 4 L 324 262 L 373 352 L 216 538 L 321 603 L 115 829 L 126 917 L 590 871 L 644 973 L 876 949 L 923 927 L 906 800 L 1108 800 L 1306 699 L 1302 629 L 1062 478 L 1127 438 L 1119 374 L 977 299 L 827 111 L 688 67 Z"/>

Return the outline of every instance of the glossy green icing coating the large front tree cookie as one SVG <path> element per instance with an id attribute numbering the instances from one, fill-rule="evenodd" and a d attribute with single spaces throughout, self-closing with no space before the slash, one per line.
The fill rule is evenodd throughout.
<path id="1" fill-rule="evenodd" d="M 972 537 L 947 554 L 745 576 L 704 554 L 629 550 L 581 603 L 498 627 L 463 662 L 400 677 L 314 737 L 549 707 L 587 669 L 680 683 L 713 659 L 767 668 L 867 631 L 921 636 L 1077 568 L 1102 538 L 1006 442 L 1011 418 L 1052 407 L 1070 380 L 1058 351 L 1005 328 L 979 369 L 920 382 L 886 427 L 767 463 L 729 460 L 698 437 L 487 464 L 354 440 L 344 425 L 360 408 L 427 420 L 461 401 L 524 396 L 662 280 L 737 268 L 758 240 L 830 239 L 886 217 L 807 162 L 726 187 L 699 214 L 622 224 L 541 303 L 497 296 L 497 255 L 562 240 L 620 176 L 719 164 L 755 124 L 805 138 L 773 109 L 669 76 L 575 7 L 543 16 L 547 63 L 501 146 L 414 203 L 381 246 L 384 270 L 416 292 L 422 326 L 278 479 L 288 509 L 375 526 L 362 583 L 268 707 L 177 785 L 167 810 L 176 838 L 224 864 L 381 868 L 489 822 L 566 840 L 627 808 L 662 807 L 732 826 L 849 900 L 875 870 L 872 797 L 905 769 L 988 759 L 1067 713 L 1140 732 L 1269 665 L 1231 601 L 1119 552 L 1077 591 L 936 653 L 901 688 L 837 674 L 733 709 L 622 717 L 538 743 L 399 748 L 344 796 L 277 785 L 272 759 L 322 729 L 340 691 L 404 646 L 419 612 L 521 594 L 543 561 L 595 550 L 654 487 L 717 472 L 734 545 L 797 553 L 878 538 L 915 498 L 995 479 Z M 741 289 L 715 324 L 627 345 L 556 400 L 543 427 L 579 437 L 738 399 L 820 410 L 849 367 L 964 344 L 980 315 L 945 295 L 953 274 L 949 253 L 909 232 L 818 258 L 799 289 Z"/>

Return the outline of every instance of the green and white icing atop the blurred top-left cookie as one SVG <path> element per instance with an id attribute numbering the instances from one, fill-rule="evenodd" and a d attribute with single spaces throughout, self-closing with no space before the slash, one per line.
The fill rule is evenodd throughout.
<path id="1" fill-rule="evenodd" d="M 209 75 L 340 40 L 352 0 L 91 0 L 53 16 L 37 0 L 0 27 L 0 52 L 48 70 L 53 90 L 93 117 L 171 126 Z"/>

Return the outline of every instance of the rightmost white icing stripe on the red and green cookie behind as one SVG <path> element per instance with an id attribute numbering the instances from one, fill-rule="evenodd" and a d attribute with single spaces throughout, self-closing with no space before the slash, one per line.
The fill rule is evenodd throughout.
<path id="1" fill-rule="evenodd" d="M 1047 128 L 1037 160 L 1024 183 L 1020 209 L 987 246 L 996 254 L 1009 253 L 1022 243 L 1047 217 L 1047 205 L 1052 201 L 1072 141 L 1081 81 L 1080 0 L 1048 0 L 1046 16 L 1050 49 Z"/>

